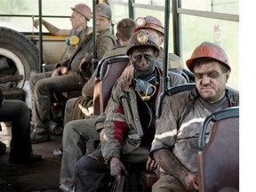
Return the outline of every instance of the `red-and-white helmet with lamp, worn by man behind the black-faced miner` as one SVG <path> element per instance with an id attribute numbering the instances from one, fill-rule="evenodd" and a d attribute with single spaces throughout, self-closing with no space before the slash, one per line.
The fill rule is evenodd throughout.
<path id="1" fill-rule="evenodd" d="M 164 26 L 160 20 L 153 16 L 147 16 L 145 18 L 139 17 L 135 20 L 136 28 L 134 28 L 134 32 L 140 30 L 141 28 L 147 29 L 152 28 L 164 36 Z"/>

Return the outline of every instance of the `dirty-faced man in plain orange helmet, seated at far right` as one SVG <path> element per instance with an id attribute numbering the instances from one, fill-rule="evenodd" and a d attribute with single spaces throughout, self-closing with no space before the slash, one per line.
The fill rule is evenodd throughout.
<path id="1" fill-rule="evenodd" d="M 213 112 L 239 105 L 239 95 L 228 92 L 231 71 L 226 52 L 204 42 L 196 47 L 188 69 L 196 89 L 169 96 L 156 125 L 150 156 L 161 167 L 152 191 L 197 191 L 198 137 L 204 118 Z"/>

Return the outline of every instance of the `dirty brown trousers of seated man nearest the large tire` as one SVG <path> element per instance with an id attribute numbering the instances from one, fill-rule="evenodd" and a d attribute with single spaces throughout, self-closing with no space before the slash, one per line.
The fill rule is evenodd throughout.
<path id="1" fill-rule="evenodd" d="M 52 76 L 51 72 L 31 75 L 29 83 L 32 95 L 33 132 L 37 134 L 49 133 L 51 96 L 54 92 L 68 92 L 81 90 L 84 78 L 75 72 L 64 76 Z"/>

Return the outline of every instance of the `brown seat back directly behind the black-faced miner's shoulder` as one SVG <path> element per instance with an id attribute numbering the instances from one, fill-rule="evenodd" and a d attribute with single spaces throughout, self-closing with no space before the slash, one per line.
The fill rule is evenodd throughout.
<path id="1" fill-rule="evenodd" d="M 100 60 L 93 93 L 95 116 L 99 116 L 107 107 L 113 85 L 116 83 L 119 76 L 122 75 L 129 61 L 127 55 Z"/>

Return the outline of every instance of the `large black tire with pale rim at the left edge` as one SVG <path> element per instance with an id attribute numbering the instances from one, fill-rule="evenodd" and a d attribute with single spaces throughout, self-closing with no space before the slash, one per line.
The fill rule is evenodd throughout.
<path id="1" fill-rule="evenodd" d="M 11 87 L 22 88 L 32 70 L 39 71 L 36 45 L 22 33 L 0 27 L 0 76 L 22 75 L 23 80 L 11 84 Z"/>

